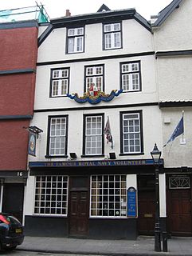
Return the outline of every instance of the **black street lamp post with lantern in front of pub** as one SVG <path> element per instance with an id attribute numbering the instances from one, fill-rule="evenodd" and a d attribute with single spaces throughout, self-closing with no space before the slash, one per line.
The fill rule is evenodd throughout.
<path id="1" fill-rule="evenodd" d="M 159 220 L 159 162 L 161 151 L 159 151 L 156 143 L 153 151 L 151 151 L 151 157 L 155 164 L 155 251 L 161 251 L 161 230 Z"/>

